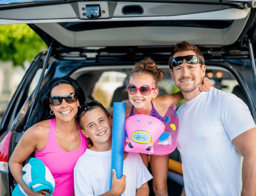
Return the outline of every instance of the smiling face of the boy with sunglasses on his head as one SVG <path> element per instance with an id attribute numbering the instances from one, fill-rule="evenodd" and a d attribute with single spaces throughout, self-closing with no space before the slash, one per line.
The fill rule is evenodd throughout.
<path id="1" fill-rule="evenodd" d="M 107 117 L 100 107 L 86 112 L 81 117 L 80 122 L 84 125 L 82 133 L 92 140 L 92 149 L 96 147 L 97 149 L 106 151 L 109 145 L 111 148 L 110 137 L 112 133 L 112 121 L 110 119 L 111 117 Z"/>

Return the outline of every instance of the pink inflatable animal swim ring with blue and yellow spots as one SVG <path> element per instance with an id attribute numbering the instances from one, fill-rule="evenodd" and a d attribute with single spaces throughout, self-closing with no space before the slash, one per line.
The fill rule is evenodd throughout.
<path id="1" fill-rule="evenodd" d="M 164 122 L 142 114 L 127 118 L 124 150 L 155 155 L 166 155 L 173 152 L 177 146 L 179 125 L 175 109 L 175 105 L 168 109 Z"/>

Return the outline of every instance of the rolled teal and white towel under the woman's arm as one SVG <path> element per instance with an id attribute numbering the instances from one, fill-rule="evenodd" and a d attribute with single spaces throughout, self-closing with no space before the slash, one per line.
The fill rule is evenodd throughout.
<path id="1" fill-rule="evenodd" d="M 55 181 L 48 167 L 38 158 L 31 158 L 29 162 L 22 168 L 25 172 L 22 176 L 23 182 L 34 192 L 43 189 L 53 194 L 55 188 Z M 12 196 L 22 196 L 26 194 L 23 188 L 17 184 L 13 190 Z"/>

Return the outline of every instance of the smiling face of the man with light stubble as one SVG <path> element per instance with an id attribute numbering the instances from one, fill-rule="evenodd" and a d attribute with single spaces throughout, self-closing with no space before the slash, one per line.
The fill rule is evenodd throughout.
<path id="1" fill-rule="evenodd" d="M 196 55 L 193 50 L 187 50 L 182 52 L 176 52 L 173 58 L 178 56 Z M 170 73 L 176 86 L 183 93 L 195 93 L 199 94 L 199 86 L 202 84 L 203 77 L 205 76 L 205 65 L 190 64 L 184 59 L 183 63 L 179 66 L 170 69 Z M 184 96 L 185 97 L 185 96 Z"/>

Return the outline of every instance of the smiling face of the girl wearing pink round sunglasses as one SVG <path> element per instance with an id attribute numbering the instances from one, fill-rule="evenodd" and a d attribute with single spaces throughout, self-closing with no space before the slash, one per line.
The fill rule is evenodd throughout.
<path id="1" fill-rule="evenodd" d="M 133 84 L 136 87 L 141 87 L 142 85 L 149 85 L 151 88 L 157 88 L 154 86 L 153 83 L 153 77 L 149 74 L 137 74 L 135 76 L 132 76 L 130 78 L 129 84 Z M 158 89 L 151 90 L 151 93 L 148 95 L 142 95 L 139 90 L 133 95 L 128 94 L 129 96 L 129 101 L 132 103 L 132 105 L 136 109 L 147 109 L 151 108 L 151 100 L 154 99 L 158 94 Z M 150 109 L 150 111 L 151 111 Z"/>

